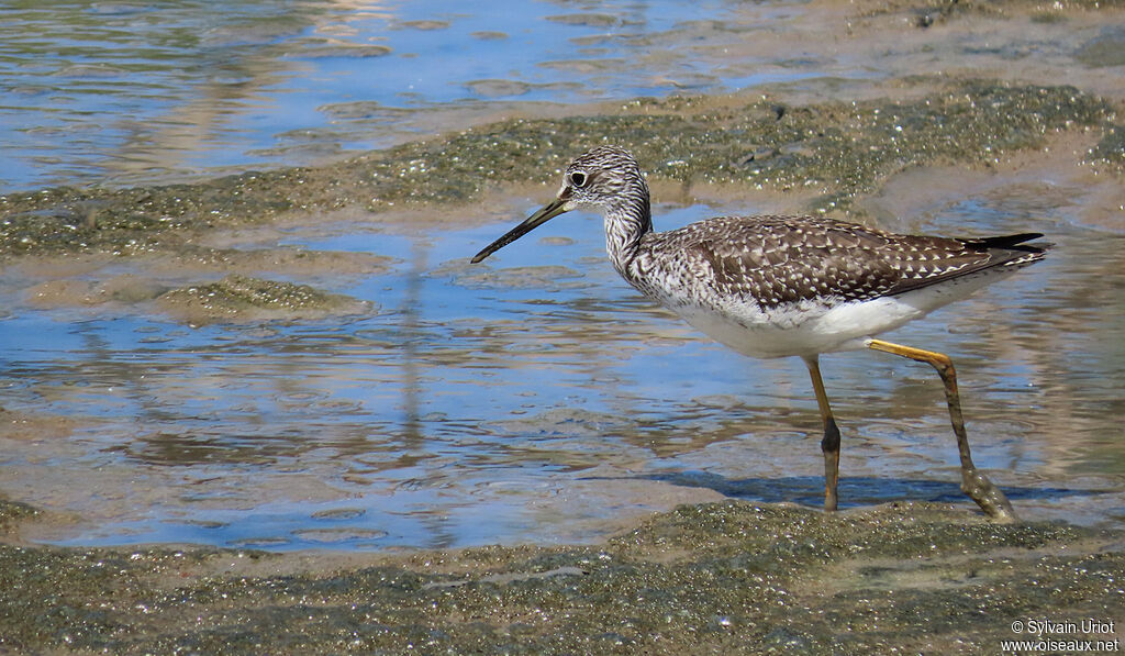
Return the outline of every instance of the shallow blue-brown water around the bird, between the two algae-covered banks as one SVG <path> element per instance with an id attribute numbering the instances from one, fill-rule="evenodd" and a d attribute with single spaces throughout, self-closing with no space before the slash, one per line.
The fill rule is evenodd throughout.
<path id="1" fill-rule="evenodd" d="M 724 209 L 660 207 L 657 221 Z M 892 339 L 955 358 L 975 460 L 1025 515 L 1120 524 L 1125 329 L 1104 309 L 1119 308 L 1125 279 L 1098 262 L 1123 240 L 1068 223 L 1070 210 L 1022 191 L 922 214 L 909 227 L 1002 233 L 1056 216 L 1056 249 Z M 592 217 L 468 264 L 503 227 L 273 240 L 411 253 L 340 289 L 377 304 L 369 317 L 187 329 L 66 309 L 0 322 L 4 407 L 82 420 L 58 439 L 6 440 L 0 486 L 81 518 L 38 536 L 72 545 L 555 542 L 717 493 L 819 504 L 800 361 L 732 357 L 651 307 L 604 261 Z M 843 506 L 962 502 L 928 368 L 876 353 L 822 367 L 845 435 Z"/>

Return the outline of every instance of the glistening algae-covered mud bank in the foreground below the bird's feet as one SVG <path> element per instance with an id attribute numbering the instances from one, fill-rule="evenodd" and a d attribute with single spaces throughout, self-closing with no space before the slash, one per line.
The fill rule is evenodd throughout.
<path id="1" fill-rule="evenodd" d="M 225 549 L 3 546 L 0 648 L 996 653 L 1015 619 L 1115 619 L 1119 540 L 930 504 L 825 514 L 724 502 L 655 515 L 598 546 L 345 565 Z"/>

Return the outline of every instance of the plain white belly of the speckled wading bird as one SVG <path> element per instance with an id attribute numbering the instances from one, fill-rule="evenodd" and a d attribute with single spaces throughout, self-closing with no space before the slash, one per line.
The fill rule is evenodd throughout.
<path id="1" fill-rule="evenodd" d="M 926 309 L 896 297 L 838 305 L 802 302 L 771 309 L 749 304 L 673 309 L 713 340 L 753 358 L 860 349 L 865 338 L 926 314 Z"/>

